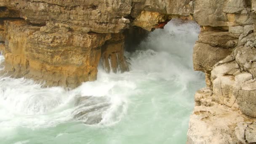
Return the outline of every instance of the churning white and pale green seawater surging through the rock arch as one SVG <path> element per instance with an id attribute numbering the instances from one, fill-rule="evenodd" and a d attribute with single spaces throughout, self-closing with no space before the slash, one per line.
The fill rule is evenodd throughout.
<path id="1" fill-rule="evenodd" d="M 205 85 L 192 69 L 198 33 L 194 22 L 170 21 L 126 53 L 130 72 L 99 67 L 72 91 L 0 76 L 0 144 L 184 144 Z"/>

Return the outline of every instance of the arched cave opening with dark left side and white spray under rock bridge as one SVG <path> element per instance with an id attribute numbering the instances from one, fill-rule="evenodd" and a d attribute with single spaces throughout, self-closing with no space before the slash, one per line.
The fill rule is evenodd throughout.
<path id="1" fill-rule="evenodd" d="M 193 69 L 193 46 L 199 33 L 200 26 L 195 21 L 183 19 L 171 19 L 163 29 L 154 29 L 153 32 L 133 27 L 124 32 L 124 49 L 127 57 L 136 51 L 150 50 L 152 55 L 158 52 L 169 53 Z"/>

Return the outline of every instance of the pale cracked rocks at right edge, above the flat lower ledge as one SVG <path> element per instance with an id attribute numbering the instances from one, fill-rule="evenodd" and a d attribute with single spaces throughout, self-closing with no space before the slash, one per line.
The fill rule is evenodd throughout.
<path id="1" fill-rule="evenodd" d="M 250 37 L 249 33 L 246 35 L 241 36 Z M 241 36 L 240 40 L 243 39 Z M 219 61 L 211 72 L 213 99 L 228 107 L 237 105 L 250 117 L 256 117 L 254 41 L 254 38 L 248 38 L 244 45 L 237 46 L 230 56 Z M 221 93 L 219 90 L 222 90 Z"/>

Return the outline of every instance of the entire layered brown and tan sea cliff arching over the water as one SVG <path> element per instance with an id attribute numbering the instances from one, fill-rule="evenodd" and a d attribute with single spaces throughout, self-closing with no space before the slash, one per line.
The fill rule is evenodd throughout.
<path id="1" fill-rule="evenodd" d="M 256 142 L 256 0 L 2 0 L 0 49 L 13 77 L 75 88 L 125 72 L 125 29 L 152 31 L 172 18 L 201 26 L 194 69 L 207 87 L 195 94 L 189 144 Z M 133 32 L 131 32 L 133 33 Z"/>

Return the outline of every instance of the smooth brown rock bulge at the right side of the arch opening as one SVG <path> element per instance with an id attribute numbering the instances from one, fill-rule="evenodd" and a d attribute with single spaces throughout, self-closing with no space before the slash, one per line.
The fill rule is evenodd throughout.
<path id="1" fill-rule="evenodd" d="M 237 46 L 239 34 L 203 27 L 193 51 L 193 65 L 197 71 L 205 72 L 208 87 L 211 83 L 213 65 L 228 56 Z"/>

